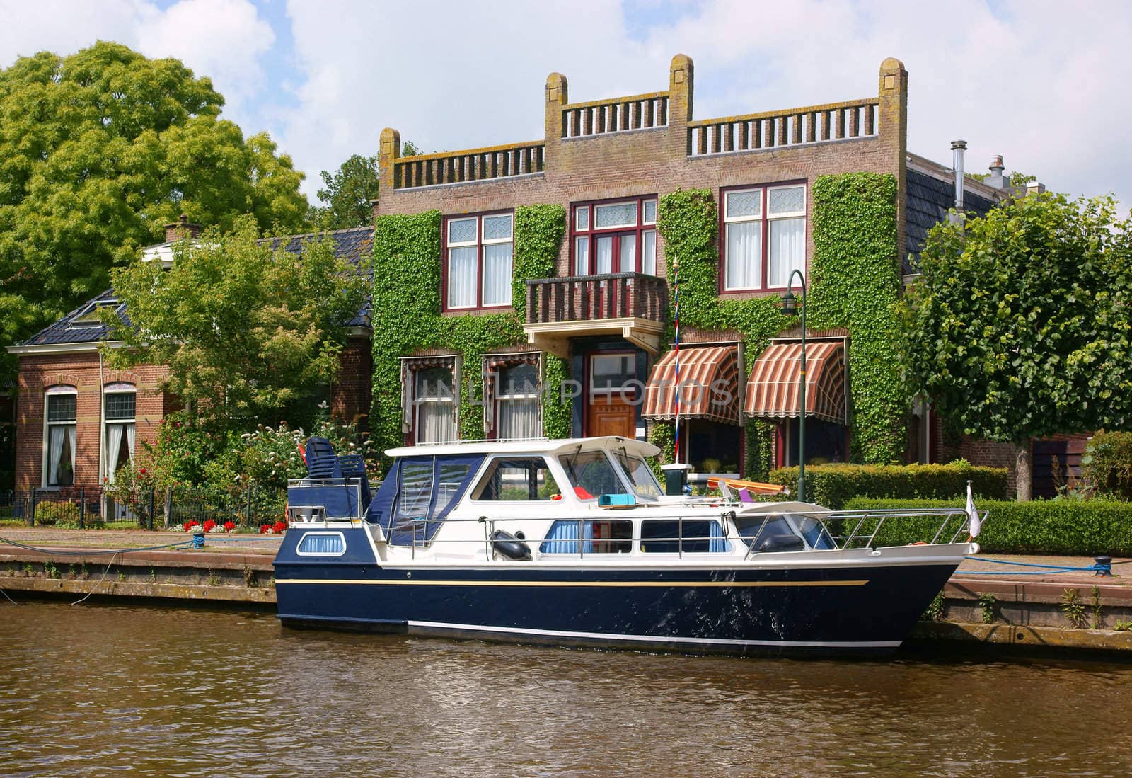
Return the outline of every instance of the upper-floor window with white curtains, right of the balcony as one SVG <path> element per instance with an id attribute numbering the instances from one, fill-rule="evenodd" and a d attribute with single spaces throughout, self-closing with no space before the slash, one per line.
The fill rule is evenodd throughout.
<path id="1" fill-rule="evenodd" d="M 806 187 L 723 193 L 723 290 L 782 289 L 806 268 Z"/>

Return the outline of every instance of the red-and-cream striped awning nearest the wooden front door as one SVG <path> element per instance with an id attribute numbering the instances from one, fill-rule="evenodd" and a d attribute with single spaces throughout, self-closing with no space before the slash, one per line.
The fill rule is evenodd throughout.
<path id="1" fill-rule="evenodd" d="M 646 419 L 676 418 L 676 350 L 653 365 L 644 392 Z M 701 345 L 679 351 L 680 418 L 738 425 L 739 352 L 735 345 Z"/>

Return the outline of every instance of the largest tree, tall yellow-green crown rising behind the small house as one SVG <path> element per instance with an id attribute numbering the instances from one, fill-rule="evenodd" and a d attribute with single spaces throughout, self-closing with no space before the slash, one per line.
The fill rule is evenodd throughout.
<path id="1" fill-rule="evenodd" d="M 302 173 L 175 59 L 98 42 L 0 70 L 0 339 L 12 343 L 110 285 L 110 270 L 185 213 L 231 229 L 305 225 Z M 9 370 L 11 364 L 7 364 Z"/>

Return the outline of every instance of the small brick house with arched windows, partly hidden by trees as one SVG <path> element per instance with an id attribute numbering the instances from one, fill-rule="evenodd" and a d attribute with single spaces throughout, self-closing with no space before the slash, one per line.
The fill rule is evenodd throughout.
<path id="1" fill-rule="evenodd" d="M 192 239 L 200 228 L 181 222 L 165 228 L 165 242 L 143 250 L 151 262 L 172 262 L 172 245 Z M 333 239 L 340 256 L 368 268 L 372 253 L 369 228 L 272 239 L 289 251 L 305 241 Z M 113 306 L 126 316 L 113 290 L 84 302 L 67 316 L 23 343 L 8 348 L 18 357 L 15 403 L 15 487 L 85 490 L 97 503 L 104 479 L 130 461 L 143 442 L 153 442 L 162 419 L 179 410 L 175 396 L 163 390 L 166 368 L 139 365 L 111 370 L 103 364 L 100 343 L 109 331 L 97 316 Z M 357 420 L 365 428 L 370 395 L 370 309 L 348 322 L 348 342 L 341 370 L 331 386 L 331 411 L 335 418 Z M 110 348 L 120 343 L 110 342 Z"/>

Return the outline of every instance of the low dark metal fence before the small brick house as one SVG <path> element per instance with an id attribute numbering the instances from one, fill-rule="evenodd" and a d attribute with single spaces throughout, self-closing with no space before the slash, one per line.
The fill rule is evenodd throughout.
<path id="1" fill-rule="evenodd" d="M 96 487 L 50 489 L 10 489 L 0 491 L 0 521 L 28 527 L 103 525 L 130 522 L 144 529 L 180 528 L 186 522 L 217 524 L 231 521 L 237 527 L 260 527 L 285 519 L 286 490 L 247 487 L 215 489 L 174 487 L 147 490 L 126 502 L 103 496 Z"/>

